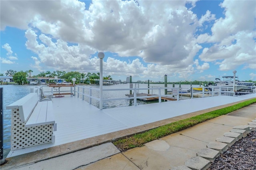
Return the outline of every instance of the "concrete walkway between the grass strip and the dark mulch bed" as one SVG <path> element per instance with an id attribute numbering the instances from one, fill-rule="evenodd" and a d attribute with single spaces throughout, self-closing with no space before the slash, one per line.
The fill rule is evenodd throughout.
<path id="1" fill-rule="evenodd" d="M 250 128 L 248 128 L 250 127 Z M 18 170 L 207 169 L 220 152 L 256 127 L 256 103 L 176 132 L 143 147 L 120 152 L 111 142 L 29 165 Z M 249 130 L 250 129 L 250 130 Z M 36 156 L 36 155 L 34 155 Z M 186 166 L 185 166 L 186 165 Z M 188 168 L 189 167 L 189 168 Z M 8 169 L 1 167 L 1 169 Z"/>

